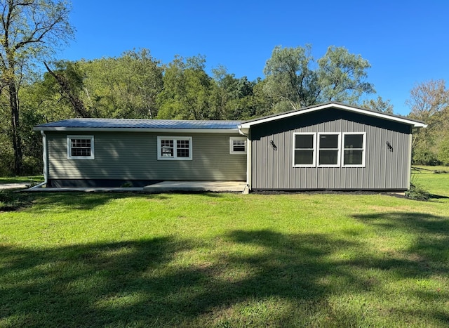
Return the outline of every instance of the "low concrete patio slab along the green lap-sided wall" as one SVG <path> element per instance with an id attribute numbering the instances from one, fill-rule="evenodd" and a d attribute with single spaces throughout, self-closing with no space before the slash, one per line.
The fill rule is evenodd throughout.
<path id="1" fill-rule="evenodd" d="M 213 192 L 244 192 L 244 181 L 163 181 L 147 185 L 146 192 L 170 191 L 213 191 Z"/>

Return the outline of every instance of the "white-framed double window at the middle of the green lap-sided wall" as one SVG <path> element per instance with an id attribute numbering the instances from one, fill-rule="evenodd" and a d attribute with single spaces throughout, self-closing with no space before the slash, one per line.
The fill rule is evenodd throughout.
<path id="1" fill-rule="evenodd" d="M 192 159 L 192 137 L 157 137 L 157 159 Z"/>

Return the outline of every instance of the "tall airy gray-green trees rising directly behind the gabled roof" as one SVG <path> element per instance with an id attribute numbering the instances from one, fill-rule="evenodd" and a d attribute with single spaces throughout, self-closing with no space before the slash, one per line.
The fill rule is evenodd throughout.
<path id="1" fill-rule="evenodd" d="M 373 84 L 366 82 L 370 64 L 361 55 L 330 46 L 323 58 L 314 63 L 310 45 L 274 48 L 264 69 L 264 91 L 277 100 L 275 111 L 328 101 L 356 104 L 364 93 L 375 93 Z"/>

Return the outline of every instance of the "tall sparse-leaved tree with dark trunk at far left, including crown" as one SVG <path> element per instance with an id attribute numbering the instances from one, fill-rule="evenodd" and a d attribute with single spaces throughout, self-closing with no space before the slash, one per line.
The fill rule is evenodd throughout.
<path id="1" fill-rule="evenodd" d="M 22 169 L 20 84 L 36 60 L 48 57 L 72 37 L 69 11 L 65 0 L 0 1 L 0 90 L 9 100 L 15 174 Z"/>

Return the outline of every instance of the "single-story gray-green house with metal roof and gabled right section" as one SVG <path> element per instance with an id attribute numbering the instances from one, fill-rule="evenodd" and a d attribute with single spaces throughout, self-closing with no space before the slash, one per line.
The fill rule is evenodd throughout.
<path id="1" fill-rule="evenodd" d="M 246 122 L 65 119 L 35 126 L 49 187 L 246 181 L 249 190 L 408 190 L 426 124 L 326 103 Z"/>

